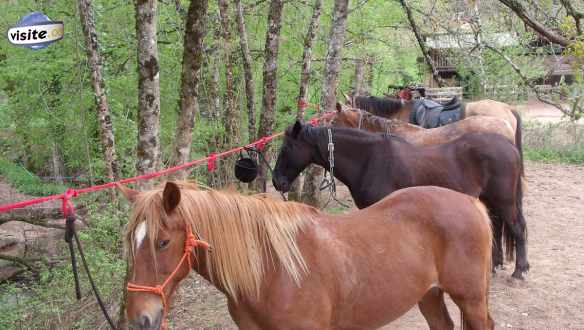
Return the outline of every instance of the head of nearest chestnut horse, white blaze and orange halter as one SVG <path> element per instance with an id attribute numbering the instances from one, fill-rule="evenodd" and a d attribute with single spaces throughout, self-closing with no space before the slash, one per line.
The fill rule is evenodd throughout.
<path id="1" fill-rule="evenodd" d="M 131 265 L 128 319 L 133 328 L 159 329 L 174 291 L 191 269 L 192 249 L 204 242 L 194 238 L 178 211 L 177 184 L 167 182 L 162 192 L 120 189 L 134 206 L 126 233 Z"/>

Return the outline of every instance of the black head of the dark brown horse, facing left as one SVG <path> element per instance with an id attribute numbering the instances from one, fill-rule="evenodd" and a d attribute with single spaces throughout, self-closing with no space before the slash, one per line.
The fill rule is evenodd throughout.
<path id="1" fill-rule="evenodd" d="M 286 130 L 272 178 L 277 190 L 289 191 L 296 177 L 318 157 L 316 155 L 318 148 L 308 136 L 311 129 L 313 129 L 311 126 L 296 121 Z"/>

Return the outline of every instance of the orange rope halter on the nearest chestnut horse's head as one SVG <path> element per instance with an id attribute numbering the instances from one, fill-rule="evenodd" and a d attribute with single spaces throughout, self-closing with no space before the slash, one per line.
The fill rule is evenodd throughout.
<path id="1" fill-rule="evenodd" d="M 207 243 L 206 241 L 201 240 L 201 239 L 197 239 L 197 237 L 195 235 L 193 235 L 191 226 L 187 224 L 186 225 L 186 239 L 185 239 L 185 247 L 184 247 L 183 256 L 181 257 L 180 261 L 178 262 L 178 265 L 176 265 L 176 268 L 172 271 L 172 273 L 170 273 L 170 275 L 168 275 L 168 277 L 164 280 L 164 282 L 162 282 L 162 284 L 159 284 L 156 286 L 146 286 L 146 285 L 138 285 L 138 284 L 128 282 L 128 286 L 127 286 L 128 291 L 148 292 L 148 293 L 152 293 L 152 294 L 160 296 L 160 298 L 162 300 L 162 307 L 163 307 L 162 325 L 161 325 L 162 329 L 167 329 L 166 315 L 168 314 L 168 301 L 166 299 L 166 295 L 164 294 L 164 287 L 166 287 L 166 285 L 168 283 L 170 283 L 170 281 L 174 278 L 174 276 L 176 275 L 176 273 L 178 272 L 180 267 L 185 262 L 185 259 L 187 260 L 187 264 L 189 266 L 188 272 L 189 273 L 191 272 L 191 270 L 193 269 L 193 265 L 192 265 L 190 256 L 193 253 L 193 249 L 197 248 L 199 246 L 204 248 L 204 249 L 207 249 L 207 250 L 209 250 L 211 248 L 211 245 L 209 245 L 209 243 Z M 187 275 L 188 275 L 188 273 L 187 273 Z"/>

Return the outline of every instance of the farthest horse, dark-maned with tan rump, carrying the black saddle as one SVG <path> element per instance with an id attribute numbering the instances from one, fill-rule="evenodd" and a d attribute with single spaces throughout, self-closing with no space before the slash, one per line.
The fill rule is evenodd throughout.
<path id="1" fill-rule="evenodd" d="M 347 100 L 347 105 L 350 107 L 365 110 L 384 118 L 399 119 L 406 123 L 410 121 L 410 112 L 416 101 L 377 96 L 350 97 L 347 94 L 344 95 Z M 494 100 L 480 100 L 466 103 L 460 119 L 474 116 L 495 117 L 506 121 L 513 129 L 515 145 L 521 146 L 521 117 L 510 105 Z"/>

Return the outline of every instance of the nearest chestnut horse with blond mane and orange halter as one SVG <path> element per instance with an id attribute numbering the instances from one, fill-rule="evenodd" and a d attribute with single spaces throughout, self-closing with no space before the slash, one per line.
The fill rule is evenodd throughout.
<path id="1" fill-rule="evenodd" d="M 134 203 L 126 233 L 134 327 L 165 327 L 192 269 L 227 297 L 240 329 L 375 329 L 415 304 L 431 329 L 452 329 L 444 293 L 465 328 L 493 328 L 491 228 L 476 198 L 415 187 L 329 215 L 173 182 L 123 190 Z"/>

